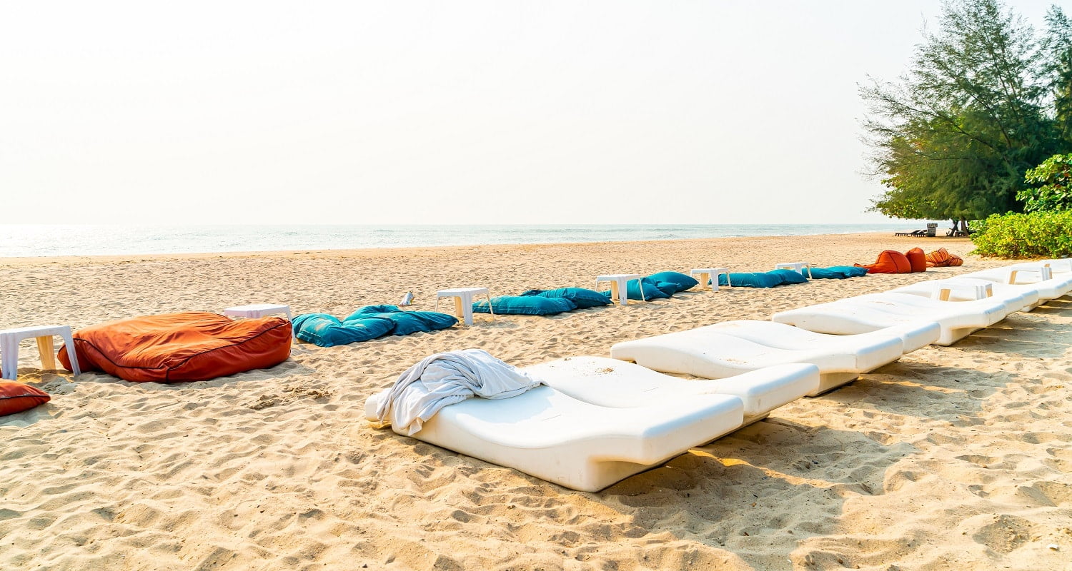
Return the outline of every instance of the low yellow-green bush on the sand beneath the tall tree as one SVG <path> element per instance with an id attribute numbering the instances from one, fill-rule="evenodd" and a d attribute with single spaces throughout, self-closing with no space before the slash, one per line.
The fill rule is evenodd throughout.
<path id="1" fill-rule="evenodd" d="M 1002 258 L 1072 256 L 1072 210 L 992 214 L 972 226 L 972 254 Z"/>

